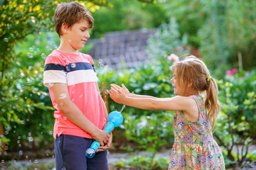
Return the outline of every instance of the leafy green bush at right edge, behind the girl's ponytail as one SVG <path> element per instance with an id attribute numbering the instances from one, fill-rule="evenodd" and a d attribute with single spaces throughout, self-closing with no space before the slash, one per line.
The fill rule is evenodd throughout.
<path id="1" fill-rule="evenodd" d="M 256 138 L 256 70 L 233 69 L 233 74 L 218 81 L 221 112 L 218 115 L 217 137 L 227 150 L 225 161 L 240 167 L 247 158 L 248 147 Z M 235 150 L 234 147 L 238 147 Z M 238 155 L 233 154 L 238 151 Z"/>

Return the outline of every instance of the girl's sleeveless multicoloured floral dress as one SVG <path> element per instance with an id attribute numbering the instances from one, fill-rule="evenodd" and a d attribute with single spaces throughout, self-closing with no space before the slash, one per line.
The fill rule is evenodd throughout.
<path id="1" fill-rule="evenodd" d="M 191 96 L 197 103 L 200 117 L 196 122 L 186 119 L 182 111 L 174 115 L 174 146 L 170 169 L 225 169 L 223 154 L 210 131 L 203 97 Z"/>

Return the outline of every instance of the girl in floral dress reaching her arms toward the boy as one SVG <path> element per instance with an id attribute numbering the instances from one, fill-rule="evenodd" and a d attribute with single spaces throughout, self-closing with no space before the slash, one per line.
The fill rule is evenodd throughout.
<path id="1" fill-rule="evenodd" d="M 122 87 L 111 84 L 110 97 L 135 108 L 176 111 L 169 169 L 225 169 L 221 149 L 212 134 L 220 111 L 217 84 L 206 64 L 194 56 L 176 62 L 172 72 L 175 97 L 130 94 L 124 84 Z M 201 96 L 204 91 L 205 101 Z"/>

